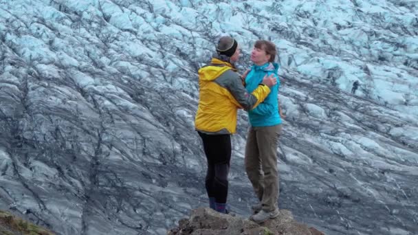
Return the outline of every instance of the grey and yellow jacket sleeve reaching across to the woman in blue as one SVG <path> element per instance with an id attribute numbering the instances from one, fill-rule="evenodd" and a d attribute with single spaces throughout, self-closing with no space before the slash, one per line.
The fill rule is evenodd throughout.
<path id="1" fill-rule="evenodd" d="M 265 85 L 259 85 L 252 93 L 248 93 L 243 86 L 241 78 L 237 74 L 234 75 L 234 78 L 228 82 L 226 88 L 246 111 L 254 109 L 269 95 L 270 88 Z"/>

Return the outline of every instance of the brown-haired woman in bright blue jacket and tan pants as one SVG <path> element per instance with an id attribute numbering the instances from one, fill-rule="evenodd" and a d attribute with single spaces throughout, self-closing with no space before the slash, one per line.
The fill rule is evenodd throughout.
<path id="1" fill-rule="evenodd" d="M 245 145 L 245 171 L 252 183 L 259 203 L 252 205 L 250 217 L 258 223 L 273 219 L 278 210 L 277 147 L 282 131 L 281 111 L 278 104 L 278 64 L 274 63 L 276 45 L 270 41 L 256 41 L 251 52 L 254 65 L 243 74 L 245 88 L 254 91 L 265 76 L 274 76 L 277 84 L 255 109 L 248 111 L 250 128 Z"/>

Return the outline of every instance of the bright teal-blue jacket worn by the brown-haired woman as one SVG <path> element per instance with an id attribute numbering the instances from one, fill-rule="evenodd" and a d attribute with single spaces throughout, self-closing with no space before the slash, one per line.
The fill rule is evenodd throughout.
<path id="1" fill-rule="evenodd" d="M 265 75 L 274 74 L 277 79 L 277 84 L 270 87 L 271 91 L 267 98 L 255 109 L 248 111 L 251 126 L 275 126 L 282 123 L 278 113 L 278 88 L 280 87 L 278 67 L 277 63 L 265 63 L 261 66 L 253 65 L 245 78 L 245 88 L 248 93 L 252 93 L 263 82 Z"/>

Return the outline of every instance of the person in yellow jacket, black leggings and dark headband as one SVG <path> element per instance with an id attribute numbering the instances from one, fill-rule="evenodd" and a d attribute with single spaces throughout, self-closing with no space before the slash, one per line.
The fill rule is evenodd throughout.
<path id="1" fill-rule="evenodd" d="M 199 69 L 199 107 L 195 128 L 208 161 L 206 191 L 210 208 L 227 213 L 228 174 L 231 159 L 230 135 L 236 130 L 237 109 L 250 110 L 259 105 L 276 85 L 276 78 L 265 76 L 248 93 L 234 63 L 240 49 L 230 36 L 219 39 L 210 63 Z"/>

